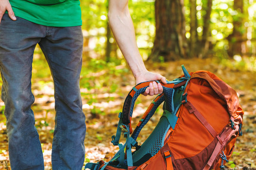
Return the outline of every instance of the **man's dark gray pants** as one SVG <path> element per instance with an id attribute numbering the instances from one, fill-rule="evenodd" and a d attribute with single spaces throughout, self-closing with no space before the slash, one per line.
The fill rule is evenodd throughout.
<path id="1" fill-rule="evenodd" d="M 44 160 L 31 105 L 31 70 L 37 43 L 54 79 L 55 132 L 53 170 L 81 170 L 85 116 L 79 76 L 82 67 L 81 26 L 41 26 L 4 14 L 0 23 L 0 71 L 3 81 L 9 160 L 12 170 L 43 170 Z"/>

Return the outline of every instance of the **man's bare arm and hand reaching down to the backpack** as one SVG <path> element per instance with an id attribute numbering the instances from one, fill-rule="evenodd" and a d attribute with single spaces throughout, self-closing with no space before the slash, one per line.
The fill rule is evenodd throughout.
<path id="1" fill-rule="evenodd" d="M 136 84 L 151 80 L 160 80 L 166 84 L 164 76 L 147 71 L 144 65 L 137 47 L 134 26 L 128 10 L 128 0 L 109 0 L 108 18 L 110 28 L 135 77 Z M 144 95 L 158 93 L 163 93 L 163 87 L 160 83 L 153 82 L 149 84 Z"/>

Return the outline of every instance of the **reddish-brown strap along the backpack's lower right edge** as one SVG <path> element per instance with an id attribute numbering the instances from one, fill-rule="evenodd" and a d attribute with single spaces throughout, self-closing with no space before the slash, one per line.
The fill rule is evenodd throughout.
<path id="1" fill-rule="evenodd" d="M 215 161 L 217 155 L 219 154 L 219 152 L 221 151 L 221 149 L 227 144 L 227 142 L 229 141 L 230 137 L 232 135 L 234 135 L 234 133 L 236 131 L 238 131 L 239 127 L 238 126 L 235 126 L 235 129 L 232 129 L 231 127 L 229 127 L 226 131 L 224 131 L 221 136 L 220 136 L 220 139 L 222 141 L 222 144 L 219 142 L 218 140 L 218 143 L 216 144 L 211 156 L 210 156 L 210 159 L 209 161 L 207 162 L 207 164 L 205 165 L 204 169 L 203 170 L 209 170 L 212 163 Z"/>

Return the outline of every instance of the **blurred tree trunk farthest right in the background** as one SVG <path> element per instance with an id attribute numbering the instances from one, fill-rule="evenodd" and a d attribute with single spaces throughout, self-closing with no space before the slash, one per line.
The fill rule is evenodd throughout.
<path id="1" fill-rule="evenodd" d="M 243 28 L 243 0 L 234 0 L 234 10 L 238 12 L 237 16 L 233 17 L 233 33 L 228 36 L 229 40 L 229 57 L 234 55 L 242 56 L 242 43 L 244 38 L 242 35 Z"/>

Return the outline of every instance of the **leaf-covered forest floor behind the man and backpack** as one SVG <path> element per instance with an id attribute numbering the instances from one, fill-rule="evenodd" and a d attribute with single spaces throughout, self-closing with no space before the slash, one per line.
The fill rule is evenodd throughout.
<path id="1" fill-rule="evenodd" d="M 51 143 L 55 119 L 54 92 L 49 70 L 46 69 L 45 75 L 39 75 L 43 74 L 40 72 L 42 69 L 40 62 L 36 61 L 35 66 L 33 66 L 32 91 L 36 100 L 32 109 L 35 113 L 36 127 L 42 143 L 45 170 L 51 170 Z M 248 69 L 243 70 L 234 62 L 219 62 L 215 59 L 189 59 L 162 64 L 146 62 L 146 68 L 172 80 L 183 74 L 181 65 L 184 64 L 190 72 L 209 70 L 233 87 L 238 93 L 245 114 L 242 128 L 243 136 L 238 137 L 233 155 L 226 165 L 232 170 L 256 170 L 256 72 Z M 95 67 L 92 66 L 93 64 Z M 81 73 L 83 111 L 86 115 L 87 124 L 84 164 L 102 159 L 108 161 L 119 150 L 117 146 L 111 144 L 111 136 L 115 134 L 118 114 L 122 110 L 125 97 L 133 86 L 134 78 L 125 64 L 116 66 L 98 61 L 84 63 Z M 155 96 L 139 97 L 133 113 L 133 127 L 136 126 L 140 116 L 154 98 Z M 3 105 L 3 102 L 0 102 L 0 170 L 10 170 Z M 156 111 L 156 114 L 138 137 L 138 143 L 141 144 L 152 132 L 161 117 L 161 113 L 162 109 Z"/>

